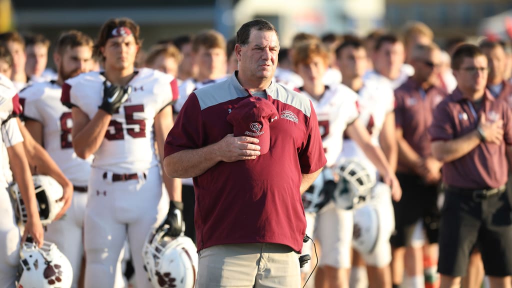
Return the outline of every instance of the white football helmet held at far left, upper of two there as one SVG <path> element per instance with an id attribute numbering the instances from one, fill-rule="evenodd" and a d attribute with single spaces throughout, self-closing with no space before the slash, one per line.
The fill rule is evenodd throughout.
<path id="1" fill-rule="evenodd" d="M 41 223 L 48 225 L 55 219 L 55 216 L 57 216 L 64 206 L 63 201 L 57 201 L 62 198 L 62 186 L 60 186 L 55 179 L 46 175 L 33 175 L 32 180 L 34 181 L 35 198 L 37 200 L 37 209 L 39 210 Z M 18 184 L 14 183 L 10 187 L 10 191 L 14 200 L 16 218 L 18 222 L 23 225 L 27 222 L 27 210 Z"/>

